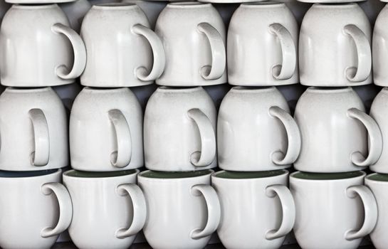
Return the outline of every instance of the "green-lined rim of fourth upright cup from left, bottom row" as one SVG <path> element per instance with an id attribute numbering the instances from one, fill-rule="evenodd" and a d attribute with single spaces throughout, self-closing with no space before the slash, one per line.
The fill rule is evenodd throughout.
<path id="1" fill-rule="evenodd" d="M 226 177 L 219 177 L 219 174 L 229 172 L 231 174 L 271 174 L 273 172 L 274 174 L 271 176 L 253 176 L 253 177 L 241 177 L 241 178 L 226 178 Z M 279 173 L 279 174 L 275 174 Z M 211 174 L 211 179 L 217 179 L 221 181 L 258 181 L 260 179 L 276 179 L 284 176 L 288 176 L 289 171 L 287 169 L 278 169 L 278 170 L 271 170 L 271 171 L 216 171 L 213 174 Z"/>

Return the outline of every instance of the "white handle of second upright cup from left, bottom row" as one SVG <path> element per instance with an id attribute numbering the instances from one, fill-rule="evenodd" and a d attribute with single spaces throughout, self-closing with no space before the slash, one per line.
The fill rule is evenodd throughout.
<path id="1" fill-rule="evenodd" d="M 129 228 L 120 228 L 116 231 L 117 238 L 127 238 L 142 230 L 147 218 L 147 206 L 142 190 L 136 184 L 121 184 L 117 186 L 117 194 L 130 196 L 133 206 L 133 219 Z"/>

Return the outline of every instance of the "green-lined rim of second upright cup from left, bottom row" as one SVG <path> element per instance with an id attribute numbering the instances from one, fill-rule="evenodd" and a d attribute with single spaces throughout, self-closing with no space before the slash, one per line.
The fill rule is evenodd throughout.
<path id="1" fill-rule="evenodd" d="M 69 175 L 72 172 L 78 172 L 80 174 L 90 174 L 94 176 L 71 176 Z M 127 174 L 125 174 L 127 172 Z M 121 171 L 80 171 L 76 169 L 69 169 L 68 171 L 63 172 L 63 177 L 67 179 L 84 179 L 85 181 L 92 181 L 93 179 L 117 179 L 125 176 L 132 176 L 139 174 L 139 169 L 127 169 Z M 105 176 L 104 176 L 105 174 Z M 108 176 L 106 176 L 108 174 Z M 98 176 L 100 175 L 100 176 Z"/>

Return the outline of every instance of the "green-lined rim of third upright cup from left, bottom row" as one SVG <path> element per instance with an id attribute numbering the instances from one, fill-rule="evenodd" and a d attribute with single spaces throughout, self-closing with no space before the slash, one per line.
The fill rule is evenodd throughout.
<path id="1" fill-rule="evenodd" d="M 155 174 L 171 174 L 173 177 L 150 177 L 150 176 L 144 176 L 144 174 L 147 173 L 155 173 Z M 206 173 L 206 174 L 204 174 Z M 142 171 L 139 174 L 137 174 L 137 179 L 146 179 L 147 181 L 185 181 L 187 179 L 198 179 L 203 177 L 211 176 L 211 174 L 214 173 L 213 169 L 204 169 L 200 171 L 152 171 L 152 170 L 146 170 Z M 194 176 L 185 176 L 185 177 L 175 177 L 175 176 L 182 176 L 183 174 L 194 174 Z M 198 175 L 195 175 L 198 174 Z"/>

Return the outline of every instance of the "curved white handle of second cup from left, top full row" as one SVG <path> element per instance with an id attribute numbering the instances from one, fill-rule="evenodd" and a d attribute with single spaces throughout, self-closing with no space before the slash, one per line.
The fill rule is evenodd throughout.
<path id="1" fill-rule="evenodd" d="M 160 38 L 157 36 L 154 31 L 146 26 L 137 24 L 132 26 L 132 32 L 137 35 L 143 36 L 152 48 L 152 54 L 154 56 L 154 64 L 152 65 L 152 70 L 150 73 L 147 72 L 147 68 L 139 67 L 136 68 L 136 76 L 139 80 L 142 81 L 152 81 L 162 75 L 164 70 L 164 65 L 166 64 L 166 57 L 164 55 L 163 43 L 160 41 Z"/>

